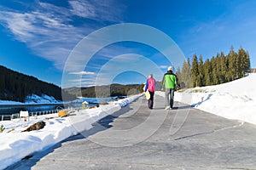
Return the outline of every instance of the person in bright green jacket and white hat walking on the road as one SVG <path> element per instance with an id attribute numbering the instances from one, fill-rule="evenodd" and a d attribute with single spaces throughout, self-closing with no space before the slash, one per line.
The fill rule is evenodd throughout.
<path id="1" fill-rule="evenodd" d="M 166 74 L 162 80 L 162 90 L 166 89 L 166 108 L 165 110 L 172 109 L 173 107 L 173 98 L 174 98 L 174 91 L 177 85 L 177 76 L 172 72 L 172 66 L 168 67 Z"/>

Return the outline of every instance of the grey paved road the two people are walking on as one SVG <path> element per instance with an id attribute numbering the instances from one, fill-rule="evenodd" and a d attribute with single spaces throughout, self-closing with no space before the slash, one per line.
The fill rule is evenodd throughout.
<path id="1" fill-rule="evenodd" d="M 9 169 L 256 169 L 256 126 L 155 101 L 150 111 L 137 99 Z"/>

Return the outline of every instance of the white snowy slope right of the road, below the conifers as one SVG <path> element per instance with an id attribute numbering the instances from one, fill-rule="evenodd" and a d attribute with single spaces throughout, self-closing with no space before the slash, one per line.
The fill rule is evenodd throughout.
<path id="1" fill-rule="evenodd" d="M 217 86 L 189 88 L 174 100 L 228 119 L 256 124 L 256 74 Z M 161 96 L 163 92 L 157 92 Z"/>

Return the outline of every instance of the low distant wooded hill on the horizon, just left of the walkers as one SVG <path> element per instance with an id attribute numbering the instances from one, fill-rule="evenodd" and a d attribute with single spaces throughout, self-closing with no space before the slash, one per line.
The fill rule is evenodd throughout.
<path id="1" fill-rule="evenodd" d="M 65 92 L 81 97 L 95 98 L 95 97 L 113 97 L 125 96 L 131 94 L 139 94 L 143 92 L 143 84 L 111 84 L 105 86 L 93 86 L 88 88 L 66 88 Z"/>

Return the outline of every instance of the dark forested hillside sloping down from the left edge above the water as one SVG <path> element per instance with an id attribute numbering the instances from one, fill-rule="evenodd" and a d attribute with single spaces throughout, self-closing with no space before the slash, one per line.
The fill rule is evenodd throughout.
<path id="1" fill-rule="evenodd" d="M 61 98 L 61 88 L 55 84 L 43 82 L 36 77 L 26 76 L 0 65 L 0 99 L 24 102 L 26 96 L 46 94 L 57 100 Z M 67 94 L 66 98 L 75 99 Z"/>

